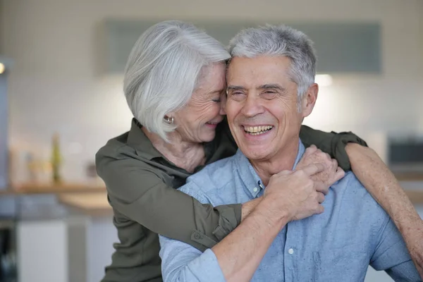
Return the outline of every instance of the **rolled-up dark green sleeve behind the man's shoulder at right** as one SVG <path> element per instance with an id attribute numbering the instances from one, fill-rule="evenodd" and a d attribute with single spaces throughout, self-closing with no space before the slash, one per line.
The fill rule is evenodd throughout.
<path id="1" fill-rule="evenodd" d="M 344 171 L 351 170 L 350 158 L 348 158 L 348 154 L 345 151 L 345 145 L 353 142 L 367 147 L 367 143 L 354 133 L 335 133 L 333 131 L 327 133 L 321 130 L 315 130 L 307 125 L 301 126 L 300 138 L 305 147 L 316 145 L 323 152 L 330 154 L 333 159 L 338 161 L 338 165 Z"/>

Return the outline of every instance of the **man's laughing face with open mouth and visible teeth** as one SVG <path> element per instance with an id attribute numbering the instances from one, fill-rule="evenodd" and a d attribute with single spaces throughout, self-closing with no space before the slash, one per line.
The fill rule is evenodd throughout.
<path id="1" fill-rule="evenodd" d="M 238 147 L 251 160 L 270 160 L 298 145 L 306 102 L 298 111 L 297 85 L 288 76 L 285 56 L 234 57 L 228 67 L 226 114 Z M 316 87 L 317 85 L 313 85 Z"/>

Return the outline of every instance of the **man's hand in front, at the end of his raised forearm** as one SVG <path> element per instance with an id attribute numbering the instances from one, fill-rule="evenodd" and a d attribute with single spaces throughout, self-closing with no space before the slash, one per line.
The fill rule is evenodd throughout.
<path id="1" fill-rule="evenodd" d="M 269 200 L 269 216 L 283 215 L 292 221 L 324 212 L 324 184 L 312 180 L 312 176 L 325 169 L 324 164 L 309 164 L 271 176 L 263 196 L 264 201 Z"/>

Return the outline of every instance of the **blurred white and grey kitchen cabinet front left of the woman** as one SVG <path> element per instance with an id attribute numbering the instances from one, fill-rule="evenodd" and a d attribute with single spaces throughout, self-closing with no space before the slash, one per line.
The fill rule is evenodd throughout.
<path id="1" fill-rule="evenodd" d="M 17 225 L 20 282 L 98 282 L 118 241 L 109 217 L 79 215 Z"/>

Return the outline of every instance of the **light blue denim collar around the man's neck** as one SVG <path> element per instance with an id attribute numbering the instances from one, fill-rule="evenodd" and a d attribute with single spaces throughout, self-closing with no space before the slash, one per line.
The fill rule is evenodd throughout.
<path id="1" fill-rule="evenodd" d="M 300 139 L 298 140 L 298 142 L 298 153 L 297 158 L 295 159 L 293 169 L 295 169 L 302 155 L 305 152 L 305 147 Z M 255 169 L 250 164 L 250 161 L 247 159 L 247 157 L 245 157 L 245 154 L 243 154 L 240 149 L 238 149 L 235 154 L 235 163 L 237 165 L 241 181 L 243 181 L 245 187 L 250 192 L 251 196 L 254 198 L 257 197 L 257 195 L 259 195 L 259 193 L 264 190 L 265 186 L 262 183 L 262 180 L 257 175 Z"/>

